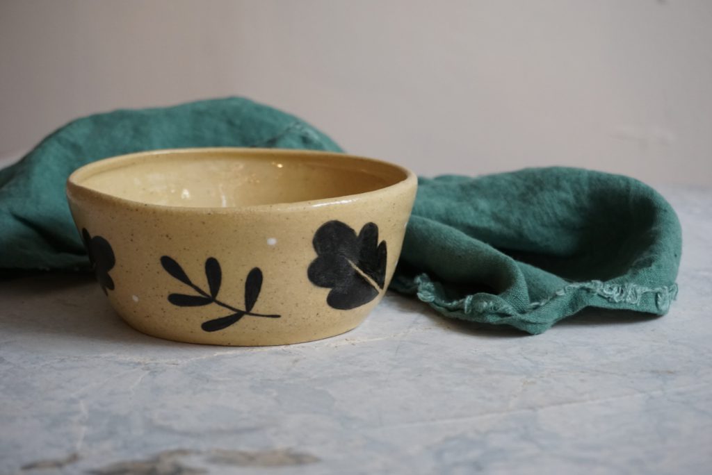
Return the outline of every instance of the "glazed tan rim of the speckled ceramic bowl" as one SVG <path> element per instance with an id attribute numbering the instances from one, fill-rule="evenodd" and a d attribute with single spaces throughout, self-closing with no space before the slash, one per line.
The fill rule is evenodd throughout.
<path id="1" fill-rule="evenodd" d="M 320 198 L 318 200 L 309 201 L 292 201 L 286 203 L 268 203 L 268 204 L 257 204 L 257 205 L 246 205 L 246 206 L 173 206 L 173 205 L 160 205 L 155 203 L 146 203 L 144 201 L 132 200 L 129 198 L 121 198 L 119 196 L 112 195 L 111 193 L 105 193 L 104 191 L 98 191 L 94 188 L 89 188 L 79 183 L 79 180 L 83 178 L 86 174 L 92 171 L 99 172 L 101 169 L 107 168 L 111 169 L 122 161 L 132 161 L 135 159 L 150 159 L 152 156 L 168 155 L 168 154 L 209 154 L 209 153 L 229 153 L 236 154 L 250 154 L 255 155 L 269 155 L 269 156 L 304 156 L 304 155 L 316 155 L 321 157 L 332 156 L 336 159 L 352 159 L 356 161 L 364 161 L 367 163 L 378 164 L 380 166 L 385 166 L 387 168 L 401 171 L 405 178 L 401 181 L 397 181 L 389 186 L 384 186 L 383 188 L 377 188 L 372 191 L 365 191 L 364 193 L 355 193 L 351 195 L 340 195 L 334 196 L 332 198 Z M 407 191 L 409 188 L 417 188 L 417 176 L 413 171 L 407 169 L 404 166 L 390 163 L 388 161 L 372 159 L 367 156 L 345 154 L 342 152 L 335 151 L 323 151 L 323 150 L 308 150 L 308 149 L 263 149 L 263 148 L 248 148 L 248 147 L 232 147 L 232 146 L 214 146 L 214 147 L 187 147 L 187 148 L 177 148 L 177 149 L 155 149 L 155 150 L 145 150 L 137 151 L 131 154 L 122 154 L 117 156 L 111 156 L 105 159 L 99 159 L 93 161 L 89 164 L 80 166 L 75 169 L 66 181 L 66 195 L 71 201 L 76 196 L 83 196 L 85 198 L 94 198 L 105 203 L 112 203 L 117 206 L 127 206 L 136 207 L 140 206 L 142 208 L 153 208 L 156 210 L 161 210 L 167 213 L 195 213 L 195 214 L 231 214 L 231 213 L 260 213 L 260 212 L 275 212 L 279 211 L 289 211 L 289 210 L 305 210 L 310 208 L 319 208 L 322 206 L 338 206 L 347 203 L 356 203 L 359 201 L 365 201 L 369 198 L 377 198 L 379 194 L 385 191 L 393 191 L 395 193 Z"/>

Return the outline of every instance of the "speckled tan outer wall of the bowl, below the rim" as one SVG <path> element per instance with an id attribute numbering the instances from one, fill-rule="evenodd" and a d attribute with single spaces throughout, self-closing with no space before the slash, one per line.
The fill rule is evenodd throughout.
<path id="1" fill-rule="evenodd" d="M 393 275 L 416 187 L 257 211 L 127 204 L 71 184 L 68 200 L 98 281 L 128 324 L 175 341 L 262 346 L 335 336 L 365 319 Z"/>

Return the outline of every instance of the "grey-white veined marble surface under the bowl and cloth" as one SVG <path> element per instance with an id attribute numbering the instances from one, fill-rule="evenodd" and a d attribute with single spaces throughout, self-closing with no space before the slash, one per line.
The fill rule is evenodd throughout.
<path id="1" fill-rule="evenodd" d="M 133 331 L 74 275 L 0 282 L 0 474 L 706 474 L 712 190 L 661 318 L 586 311 L 540 336 L 388 295 L 314 343 Z"/>

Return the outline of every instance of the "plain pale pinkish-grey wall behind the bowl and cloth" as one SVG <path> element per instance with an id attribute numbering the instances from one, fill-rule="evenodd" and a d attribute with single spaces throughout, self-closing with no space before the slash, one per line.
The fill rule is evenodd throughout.
<path id="1" fill-rule="evenodd" d="M 243 95 L 419 174 L 712 181 L 710 0 L 0 0 L 0 155 Z"/>

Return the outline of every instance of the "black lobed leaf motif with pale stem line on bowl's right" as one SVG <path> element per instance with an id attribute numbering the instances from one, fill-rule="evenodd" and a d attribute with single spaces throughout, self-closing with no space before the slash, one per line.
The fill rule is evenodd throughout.
<path id="1" fill-rule="evenodd" d="M 324 223 L 314 234 L 317 258 L 307 271 L 309 280 L 330 288 L 326 302 L 350 310 L 367 304 L 383 290 L 386 242 L 378 242 L 378 226 L 367 223 L 356 231 L 341 221 Z"/>

